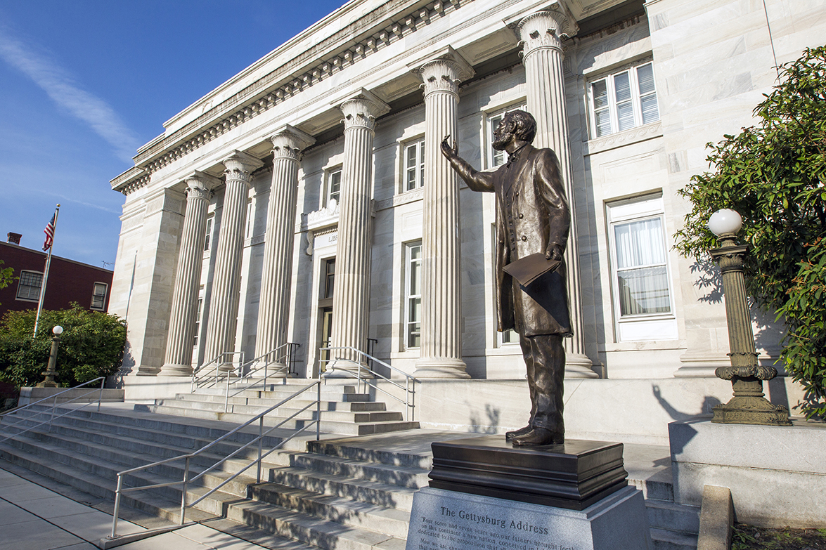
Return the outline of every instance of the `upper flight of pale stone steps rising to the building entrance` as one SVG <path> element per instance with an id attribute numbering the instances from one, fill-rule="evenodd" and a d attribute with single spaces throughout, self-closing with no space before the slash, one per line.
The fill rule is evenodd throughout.
<path id="1" fill-rule="evenodd" d="M 225 407 L 224 391 L 220 389 L 200 389 L 195 393 L 179 393 L 173 399 L 156 399 L 154 405 L 135 405 L 135 410 L 148 410 L 165 415 L 189 416 L 207 420 L 224 420 L 241 424 L 262 410 L 291 396 L 306 381 L 279 379 L 278 383 L 268 383 L 265 387 L 254 386 L 240 391 L 229 398 Z M 401 412 L 387 410 L 381 401 L 373 401 L 367 393 L 357 393 L 355 386 L 328 383 L 321 386 L 321 431 L 328 434 L 369 435 L 395 432 L 419 427 L 418 422 L 406 421 Z M 307 391 L 287 406 L 273 411 L 273 418 L 287 418 L 298 410 L 310 405 L 316 399 L 315 391 Z M 297 416 L 287 429 L 299 429 L 308 420 L 316 419 L 316 407 L 311 406 Z"/>

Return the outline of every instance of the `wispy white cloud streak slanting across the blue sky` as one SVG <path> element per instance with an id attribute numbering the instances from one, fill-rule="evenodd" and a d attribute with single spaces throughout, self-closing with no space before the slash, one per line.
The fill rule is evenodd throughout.
<path id="1" fill-rule="evenodd" d="M 140 140 L 107 102 L 83 90 L 49 55 L 13 37 L 2 25 L 0 58 L 31 78 L 60 107 L 88 124 L 112 145 L 119 157 L 129 162 L 135 155 Z"/>

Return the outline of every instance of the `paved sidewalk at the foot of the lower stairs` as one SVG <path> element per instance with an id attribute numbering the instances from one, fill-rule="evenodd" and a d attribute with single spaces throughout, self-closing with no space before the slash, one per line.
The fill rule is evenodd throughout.
<path id="1" fill-rule="evenodd" d="M 119 534 L 146 529 L 121 519 Z M 112 515 L 80 504 L 0 469 L 0 549 L 97 550 L 112 532 Z M 117 547 L 123 550 L 264 550 L 265 547 L 202 524 Z"/>

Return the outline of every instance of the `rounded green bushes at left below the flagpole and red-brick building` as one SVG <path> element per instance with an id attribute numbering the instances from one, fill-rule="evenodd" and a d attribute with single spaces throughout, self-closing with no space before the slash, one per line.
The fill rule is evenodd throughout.
<path id="1" fill-rule="evenodd" d="M 36 310 L 8 311 L 0 320 L 0 380 L 15 386 L 34 386 L 43 380 L 49 363 L 52 327 L 60 325 L 55 382 L 76 386 L 114 374 L 121 367 L 126 344 L 126 321 L 78 304 L 69 310 L 41 311 L 36 338 Z"/>

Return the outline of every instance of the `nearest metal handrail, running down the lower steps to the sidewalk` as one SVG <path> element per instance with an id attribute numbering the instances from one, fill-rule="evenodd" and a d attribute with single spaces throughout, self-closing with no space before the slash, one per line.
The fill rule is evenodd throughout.
<path id="1" fill-rule="evenodd" d="M 269 413 L 273 412 L 273 410 L 278 409 L 279 407 L 281 407 L 282 405 L 287 403 L 287 401 L 291 401 L 295 397 L 300 396 L 302 393 L 309 390 L 313 386 L 316 387 L 316 401 L 311 402 L 309 405 L 304 406 L 303 408 L 301 408 L 301 410 L 298 410 L 297 412 L 293 413 L 292 415 L 290 415 L 286 419 L 282 420 L 278 424 L 276 424 L 276 425 L 270 427 L 269 429 L 267 429 L 267 431 L 264 431 L 264 429 L 263 429 L 263 417 L 264 416 L 266 416 Z M 305 410 L 308 410 L 312 405 L 316 405 L 316 419 L 315 420 L 309 421 L 306 425 L 302 426 L 300 429 L 297 429 L 289 437 L 287 437 L 286 439 L 282 439 L 281 443 L 278 443 L 278 445 L 276 445 L 273 448 L 269 449 L 266 453 L 263 452 L 263 439 L 268 434 L 270 434 L 274 429 L 278 429 L 283 424 L 285 424 L 285 423 L 289 422 L 290 420 L 294 419 L 297 415 L 300 415 Z M 221 443 L 225 439 L 228 439 L 231 435 L 236 434 L 241 429 L 244 429 L 247 426 L 249 426 L 250 424 L 253 424 L 255 421 L 259 422 L 259 434 L 258 434 L 258 436 L 256 436 L 254 439 L 251 439 L 249 442 L 244 443 L 243 446 L 241 446 L 240 448 L 235 449 L 235 451 L 228 454 L 224 458 L 221 458 L 221 460 L 219 460 L 218 462 L 212 464 L 210 467 L 207 467 L 207 469 L 205 469 L 201 473 L 197 474 L 197 476 L 192 477 L 192 478 L 189 477 L 189 466 L 190 466 L 190 462 L 191 462 L 192 458 L 195 458 L 198 455 L 206 452 L 207 449 L 209 449 L 209 448 L 215 447 L 218 443 Z M 192 507 L 194 505 L 197 505 L 197 503 L 201 502 L 201 500 L 204 500 L 205 498 L 207 498 L 207 496 L 211 495 L 215 491 L 218 491 L 219 489 L 221 489 L 221 487 L 225 486 L 227 483 L 234 480 L 235 477 L 240 476 L 242 473 L 246 472 L 250 467 L 253 467 L 256 464 L 258 465 L 258 473 L 257 473 L 257 476 L 256 476 L 256 482 L 260 483 L 261 482 L 261 462 L 263 461 L 263 459 L 267 458 L 271 453 L 275 452 L 279 448 L 282 448 L 285 443 L 287 443 L 291 439 L 295 438 L 298 434 L 301 434 L 304 431 L 306 431 L 306 429 L 310 428 L 313 424 L 316 425 L 316 441 L 318 441 L 320 439 L 320 435 L 321 435 L 320 434 L 320 426 L 321 426 L 321 381 L 320 380 L 316 381 L 316 382 L 312 382 L 309 386 L 305 386 L 305 387 L 301 388 L 301 390 L 296 391 L 295 393 L 293 393 L 291 396 L 286 397 L 282 401 L 278 401 L 278 403 L 276 403 L 275 405 L 269 407 L 267 410 L 263 410 L 258 415 L 255 415 L 253 418 L 251 418 L 251 419 L 247 420 L 246 422 L 244 422 L 244 424 L 240 424 L 239 426 L 235 427 L 234 429 L 231 429 L 229 432 L 222 435 L 220 438 L 216 439 L 215 441 L 213 441 L 211 443 L 207 443 L 206 445 L 204 445 L 202 448 L 199 448 L 194 453 L 182 454 L 182 455 L 179 455 L 178 457 L 173 457 L 173 458 L 165 458 L 164 460 L 159 460 L 158 462 L 152 462 L 151 464 L 146 464 L 145 466 L 134 467 L 134 468 L 130 468 L 129 470 L 124 470 L 123 472 L 118 472 L 117 473 L 117 489 L 115 491 L 115 510 L 112 512 L 112 534 L 110 534 L 107 538 L 112 540 L 114 538 L 119 537 L 119 535 L 117 534 L 117 519 L 118 519 L 117 516 L 120 512 L 121 495 L 123 493 L 131 492 L 131 491 L 141 491 L 141 490 L 144 490 L 144 489 L 153 489 L 155 487 L 169 487 L 169 486 L 177 486 L 177 485 L 182 486 L 182 488 L 181 488 L 181 518 L 180 518 L 180 521 L 179 521 L 179 525 L 183 525 L 183 524 L 186 523 L 185 518 L 186 518 L 186 509 L 187 508 Z M 207 493 L 205 493 L 204 495 L 201 495 L 200 497 L 198 497 L 197 500 L 193 500 L 191 503 L 187 503 L 187 485 L 189 483 L 191 483 L 192 481 L 196 481 L 197 479 L 203 477 L 208 472 L 211 472 L 212 470 L 214 470 L 216 467 L 221 466 L 221 464 L 223 464 L 224 462 L 226 462 L 230 458 L 235 457 L 236 454 L 240 453 L 242 450 L 244 450 L 245 448 L 248 448 L 250 445 L 253 445 L 254 443 L 258 443 L 258 452 L 259 452 L 258 453 L 259 454 L 258 458 L 256 458 L 252 462 L 249 462 L 249 464 L 247 464 L 246 466 L 241 468 L 238 472 L 235 472 L 234 474 L 232 474 L 232 476 L 226 478 L 224 481 L 221 481 L 221 483 L 219 483 L 215 487 L 211 488 L 209 491 L 207 491 Z M 185 466 L 184 466 L 184 469 L 183 469 L 183 480 L 181 480 L 181 481 L 169 481 L 167 483 L 155 483 L 153 485 L 137 486 L 137 487 L 124 487 L 123 486 L 123 477 L 126 476 L 127 474 L 131 474 L 133 472 L 140 472 L 142 470 L 146 470 L 146 469 L 151 468 L 151 467 L 160 466 L 161 464 L 166 464 L 166 463 L 169 463 L 169 462 L 175 462 L 175 461 L 178 461 L 178 460 L 185 461 Z"/>

